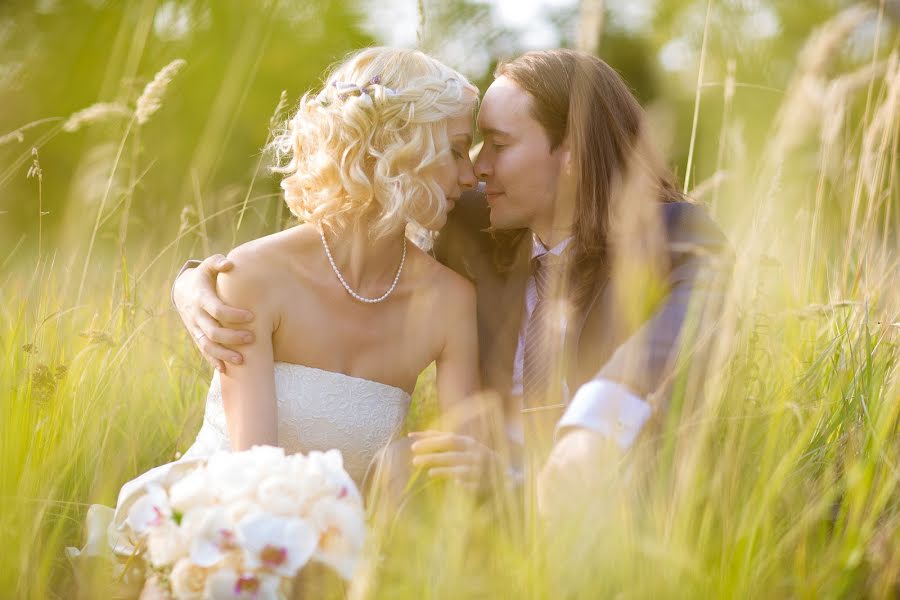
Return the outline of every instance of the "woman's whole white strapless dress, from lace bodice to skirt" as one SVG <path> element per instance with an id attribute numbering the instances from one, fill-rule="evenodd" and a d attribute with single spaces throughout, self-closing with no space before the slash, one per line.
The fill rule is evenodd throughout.
<path id="1" fill-rule="evenodd" d="M 293 363 L 276 362 L 274 376 L 278 445 L 289 454 L 336 448 L 344 458 L 344 469 L 362 486 L 379 452 L 402 428 L 410 395 L 386 383 Z M 110 552 L 130 556 L 136 539 L 125 518 L 147 484 L 171 485 L 199 460 L 231 449 L 217 371 L 206 396 L 203 425 L 191 447 L 177 461 L 155 467 L 122 486 L 115 509 L 91 506 L 86 545 L 81 551 L 70 548 L 70 557 L 108 556 Z"/>

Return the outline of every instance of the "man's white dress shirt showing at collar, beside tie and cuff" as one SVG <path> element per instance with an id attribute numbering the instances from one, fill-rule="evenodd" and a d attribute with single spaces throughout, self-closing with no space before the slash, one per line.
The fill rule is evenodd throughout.
<path id="1" fill-rule="evenodd" d="M 568 237 L 556 246 L 547 250 L 537 236 L 532 236 L 531 257 L 550 252 L 559 256 L 563 253 L 572 237 Z M 519 330 L 516 345 L 516 357 L 513 363 L 512 389 L 510 394 L 521 398 L 522 370 L 525 364 L 525 327 L 534 307 L 537 304 L 537 288 L 534 276 L 529 276 L 525 284 L 525 314 Z M 565 332 L 565 329 L 563 329 Z M 599 368 L 599 366 L 598 366 Z M 568 395 L 568 386 L 563 382 L 564 394 Z M 575 392 L 566 412 L 556 425 L 557 437 L 566 430 L 581 427 L 606 437 L 612 438 L 620 448 L 631 446 L 644 423 L 650 417 L 650 405 L 631 393 L 625 386 L 607 379 L 592 379 Z"/>

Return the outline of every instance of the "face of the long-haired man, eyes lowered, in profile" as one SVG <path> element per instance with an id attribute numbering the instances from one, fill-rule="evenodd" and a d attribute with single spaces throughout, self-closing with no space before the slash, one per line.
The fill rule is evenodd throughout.
<path id="1" fill-rule="evenodd" d="M 532 116 L 531 95 L 506 77 L 488 88 L 478 113 L 484 145 L 475 175 L 485 183 L 491 225 L 535 230 L 553 221 L 562 151 Z"/>

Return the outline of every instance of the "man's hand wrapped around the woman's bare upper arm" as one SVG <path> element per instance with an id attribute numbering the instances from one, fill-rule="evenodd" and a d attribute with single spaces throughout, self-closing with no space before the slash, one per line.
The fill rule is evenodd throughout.
<path id="1" fill-rule="evenodd" d="M 216 293 L 216 276 L 231 270 L 233 263 L 214 254 L 194 269 L 182 273 L 172 287 L 172 299 L 184 326 L 194 338 L 203 357 L 219 371 L 225 361 L 240 364 L 244 357 L 228 346 L 253 341 L 253 334 L 241 329 L 229 329 L 222 323 L 249 323 L 253 313 L 224 304 Z"/>

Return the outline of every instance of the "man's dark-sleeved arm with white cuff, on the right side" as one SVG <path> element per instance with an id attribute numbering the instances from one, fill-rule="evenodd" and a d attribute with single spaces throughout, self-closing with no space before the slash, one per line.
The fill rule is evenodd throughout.
<path id="1" fill-rule="evenodd" d="M 665 210 L 669 294 L 594 378 L 576 391 L 557 425 L 559 436 L 580 428 L 628 448 L 652 413 L 647 398 L 664 387 L 675 355 L 683 349 L 689 315 L 709 318 L 721 304 L 722 275 L 730 259 L 725 236 L 698 206 L 676 203 Z"/>

